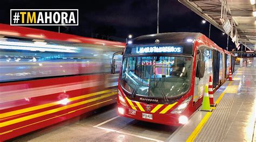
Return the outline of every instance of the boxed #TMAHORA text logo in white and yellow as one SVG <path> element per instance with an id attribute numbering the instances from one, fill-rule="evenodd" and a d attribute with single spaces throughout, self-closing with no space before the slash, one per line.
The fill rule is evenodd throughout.
<path id="1" fill-rule="evenodd" d="M 10 25 L 78 25 L 78 9 L 11 9 L 10 14 Z"/>

